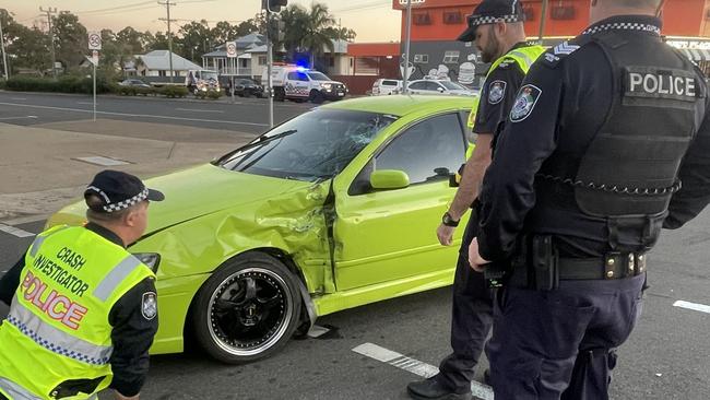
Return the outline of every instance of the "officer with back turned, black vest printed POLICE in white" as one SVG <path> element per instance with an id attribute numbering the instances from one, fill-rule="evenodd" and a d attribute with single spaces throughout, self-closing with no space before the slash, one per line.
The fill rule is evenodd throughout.
<path id="1" fill-rule="evenodd" d="M 663 43 L 659 1 L 592 0 L 499 134 L 470 247 L 475 269 L 512 270 L 486 348 L 496 400 L 607 399 L 647 254 L 709 201 L 706 84 Z"/>

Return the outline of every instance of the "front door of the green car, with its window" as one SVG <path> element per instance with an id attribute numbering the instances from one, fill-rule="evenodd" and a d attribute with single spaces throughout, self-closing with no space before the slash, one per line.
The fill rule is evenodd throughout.
<path id="1" fill-rule="evenodd" d="M 450 279 L 457 247 L 441 246 L 436 228 L 455 188 L 449 173 L 464 162 L 458 113 L 431 116 L 404 128 L 335 199 L 335 281 L 339 291 L 397 280 Z M 398 169 L 410 186 L 376 191 L 369 176 Z M 459 230 L 463 231 L 463 230 Z M 461 233 L 457 234 L 460 238 Z"/>

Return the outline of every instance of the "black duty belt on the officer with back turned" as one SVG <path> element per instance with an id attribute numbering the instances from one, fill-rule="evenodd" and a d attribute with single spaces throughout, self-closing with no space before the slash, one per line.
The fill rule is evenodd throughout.
<path id="1" fill-rule="evenodd" d="M 559 280 L 623 279 L 646 272 L 646 255 L 608 252 L 604 258 L 560 258 Z"/>

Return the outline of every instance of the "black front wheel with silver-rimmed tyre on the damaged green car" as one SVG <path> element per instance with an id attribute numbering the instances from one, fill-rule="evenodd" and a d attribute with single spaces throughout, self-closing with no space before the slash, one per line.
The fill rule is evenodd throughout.
<path id="1" fill-rule="evenodd" d="M 267 357 L 300 325 L 301 298 L 296 275 L 260 252 L 227 261 L 200 289 L 192 328 L 214 358 L 248 363 Z"/>

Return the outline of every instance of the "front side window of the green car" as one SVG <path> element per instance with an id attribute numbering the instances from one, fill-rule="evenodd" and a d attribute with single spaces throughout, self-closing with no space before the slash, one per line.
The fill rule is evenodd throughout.
<path id="1" fill-rule="evenodd" d="M 375 157 L 375 169 L 399 169 L 410 184 L 448 179 L 465 161 L 459 117 L 447 114 L 407 128 Z"/>

